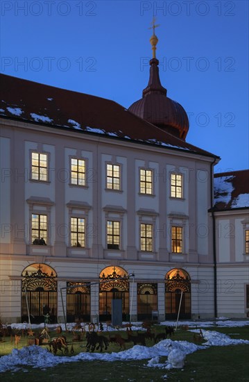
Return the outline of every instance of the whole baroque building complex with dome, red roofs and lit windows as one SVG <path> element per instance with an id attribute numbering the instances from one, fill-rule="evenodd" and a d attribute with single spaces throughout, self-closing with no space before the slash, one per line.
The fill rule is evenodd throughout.
<path id="1" fill-rule="evenodd" d="M 151 44 L 128 110 L 1 75 L 3 322 L 248 315 L 248 172 L 186 141 Z"/>

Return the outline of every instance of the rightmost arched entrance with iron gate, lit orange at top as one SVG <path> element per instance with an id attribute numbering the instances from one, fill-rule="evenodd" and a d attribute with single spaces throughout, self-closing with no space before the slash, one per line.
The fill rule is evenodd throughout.
<path id="1" fill-rule="evenodd" d="M 180 268 L 171 269 L 165 277 L 165 319 L 191 318 L 191 283 L 189 274 Z"/>

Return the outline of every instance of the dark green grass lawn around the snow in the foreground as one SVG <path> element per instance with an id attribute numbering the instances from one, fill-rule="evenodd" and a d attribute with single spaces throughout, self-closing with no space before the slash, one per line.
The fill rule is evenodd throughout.
<path id="1" fill-rule="evenodd" d="M 207 330 L 214 330 L 230 335 L 234 339 L 249 340 L 249 327 L 234 328 L 216 328 L 212 327 Z M 162 331 L 162 326 L 155 326 L 155 331 Z M 55 333 L 51 333 L 51 336 Z M 112 333 L 111 333 L 112 334 Z M 55 335 L 54 335 L 55 336 Z M 123 334 L 125 336 L 125 334 Z M 71 341 L 71 334 L 67 333 L 68 340 Z M 194 342 L 193 333 L 189 331 L 178 330 L 173 340 L 187 340 Z M 25 342 L 25 339 L 22 338 Z M 4 345 L 5 344 L 5 345 Z M 83 342 L 84 344 L 84 342 Z M 148 342 L 148 346 L 153 346 L 153 342 Z M 4 346 L 3 346 L 4 345 Z M 22 344 L 19 346 L 21 347 Z M 71 345 L 69 345 L 70 347 Z M 85 351 L 80 347 L 82 344 L 74 343 L 76 355 Z M 126 344 L 126 349 L 132 347 L 132 343 Z M 8 340 L 0 342 L 0 355 L 8 354 L 12 350 Z M 116 344 L 110 344 L 108 352 L 119 351 Z M 60 353 L 58 354 L 60 355 Z M 166 357 L 160 358 L 163 363 Z M 234 382 L 249 381 L 249 346 L 240 344 L 227 347 L 209 347 L 205 350 L 196 351 L 189 354 L 186 358 L 184 369 L 158 369 L 154 367 L 146 367 L 147 360 L 132 361 L 78 361 L 77 363 L 67 363 L 56 367 L 48 367 L 46 369 L 33 369 L 25 367 L 17 372 L 1 373 L 2 381 L 74 381 L 74 382 L 98 382 L 98 381 L 127 381 L 127 382 L 157 382 L 157 381 L 204 381 L 204 382 Z M 166 378 L 164 378 L 166 376 Z"/>

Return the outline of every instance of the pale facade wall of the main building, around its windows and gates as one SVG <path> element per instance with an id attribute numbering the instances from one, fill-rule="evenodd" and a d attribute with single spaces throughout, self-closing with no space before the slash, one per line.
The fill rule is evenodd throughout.
<path id="1" fill-rule="evenodd" d="M 31 179 L 33 151 L 48 155 L 48 181 Z M 84 158 L 87 163 L 84 186 L 70 184 L 71 157 Z M 67 281 L 93 283 L 91 317 L 98 315 L 98 285 L 94 282 L 108 266 L 135 274 L 129 292 L 134 319 L 137 283 L 157 284 L 157 310 L 160 319 L 165 318 L 165 276 L 174 268 L 183 269 L 191 279 L 190 316 L 213 317 L 212 218 L 207 214 L 211 162 L 212 158 L 196 158 L 184 151 L 155 151 L 148 145 L 128 145 L 104 137 L 96 143 L 95 135 L 2 120 L 1 319 L 22 319 L 22 272 L 32 264 L 49 265 L 56 272 L 59 320 L 63 316 L 60 288 Z M 106 188 L 106 163 L 120 166 L 121 190 Z M 139 193 L 140 168 L 152 170 L 152 194 Z M 170 176 L 175 172 L 182 174 L 182 197 L 178 199 L 170 195 Z M 46 246 L 32 243 L 32 214 L 47 215 Z M 84 248 L 71 247 L 71 216 L 85 218 Z M 120 222 L 119 249 L 107 247 L 108 219 Z M 153 226 L 152 251 L 141 251 L 140 224 Z M 171 251 L 171 226 L 182 227 L 181 253 Z M 63 290 L 64 297 L 65 293 Z"/>

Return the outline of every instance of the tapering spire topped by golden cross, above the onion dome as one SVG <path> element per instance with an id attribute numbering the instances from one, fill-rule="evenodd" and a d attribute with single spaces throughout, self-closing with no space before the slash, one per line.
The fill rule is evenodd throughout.
<path id="1" fill-rule="evenodd" d="M 143 97 L 151 93 L 164 94 L 164 95 L 167 94 L 167 90 L 161 85 L 161 82 L 160 82 L 159 69 L 158 69 L 159 61 L 155 57 L 155 51 L 157 49 L 156 46 L 158 42 L 158 38 L 155 35 L 155 28 L 157 28 L 157 26 L 159 26 L 160 24 L 155 25 L 155 17 L 153 17 L 153 22 L 151 24 L 152 26 L 149 29 L 153 29 L 153 35 L 150 38 L 151 47 L 152 47 L 151 49 L 153 51 L 153 58 L 151 58 L 150 60 L 150 65 L 151 65 L 150 78 L 148 80 L 147 87 L 143 90 Z"/>

